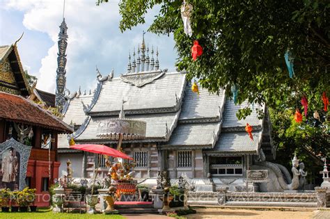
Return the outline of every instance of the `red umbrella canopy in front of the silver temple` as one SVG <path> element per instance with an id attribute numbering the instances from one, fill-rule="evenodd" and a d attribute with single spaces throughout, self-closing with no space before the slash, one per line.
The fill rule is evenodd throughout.
<path id="1" fill-rule="evenodd" d="M 72 146 L 70 146 L 70 148 L 79 149 L 79 150 L 85 151 L 85 152 L 92 152 L 95 154 L 104 154 L 104 155 L 108 155 L 108 156 L 119 157 L 122 159 L 133 160 L 132 157 L 128 156 L 127 154 L 124 154 L 123 152 L 120 152 L 120 151 L 113 149 L 111 147 L 108 147 L 106 145 L 92 145 L 92 144 L 72 145 Z"/>

